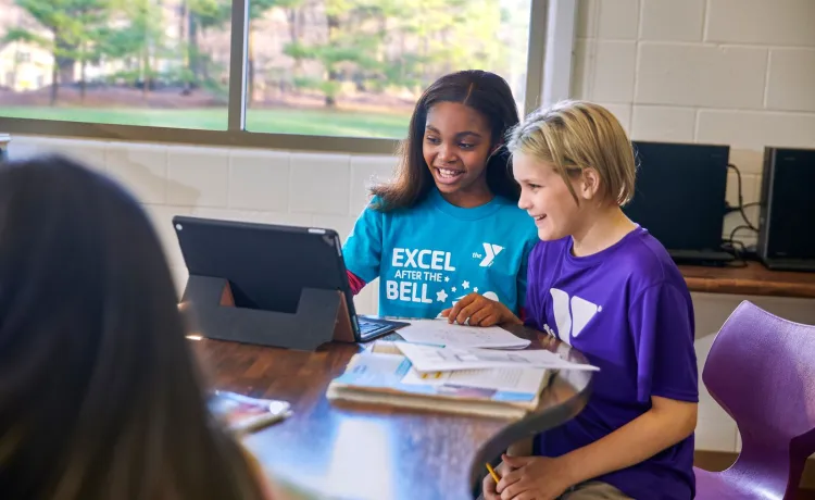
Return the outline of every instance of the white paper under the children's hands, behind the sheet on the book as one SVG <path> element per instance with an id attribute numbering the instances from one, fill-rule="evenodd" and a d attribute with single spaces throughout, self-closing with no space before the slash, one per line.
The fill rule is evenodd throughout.
<path id="1" fill-rule="evenodd" d="M 436 346 L 477 347 L 482 349 L 523 349 L 529 343 L 498 326 L 466 326 L 444 320 L 412 320 L 397 330 L 406 341 Z"/>

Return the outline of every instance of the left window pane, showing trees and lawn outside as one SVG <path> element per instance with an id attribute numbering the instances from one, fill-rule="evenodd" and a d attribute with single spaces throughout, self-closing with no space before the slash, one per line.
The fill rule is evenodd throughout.
<path id="1" fill-rule="evenodd" d="M 226 129 L 229 3 L 0 0 L 0 115 Z"/>

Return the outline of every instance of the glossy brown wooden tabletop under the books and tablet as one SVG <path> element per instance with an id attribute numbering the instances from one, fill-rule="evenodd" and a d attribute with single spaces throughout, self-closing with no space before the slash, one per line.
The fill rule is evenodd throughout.
<path id="1" fill-rule="evenodd" d="M 512 328 L 577 362 L 582 355 L 552 337 Z M 328 383 L 362 348 L 331 343 L 316 352 L 203 339 L 193 348 L 215 387 L 284 399 L 293 415 L 244 439 L 273 476 L 328 498 L 364 500 L 473 498 L 474 484 L 507 442 L 554 427 L 582 410 L 591 373 L 554 375 L 540 407 L 522 421 L 330 403 Z"/>

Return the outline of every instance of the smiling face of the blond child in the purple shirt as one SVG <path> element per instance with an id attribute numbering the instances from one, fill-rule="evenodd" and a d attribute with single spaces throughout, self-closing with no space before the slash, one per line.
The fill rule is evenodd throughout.
<path id="1" fill-rule="evenodd" d="M 515 180 L 521 185 L 518 207 L 535 220 L 538 237 L 552 241 L 577 234 L 584 225 L 587 203 L 578 203 L 566 182 L 553 165 L 516 152 L 512 158 Z M 579 197 L 584 183 L 574 179 L 572 187 Z"/>

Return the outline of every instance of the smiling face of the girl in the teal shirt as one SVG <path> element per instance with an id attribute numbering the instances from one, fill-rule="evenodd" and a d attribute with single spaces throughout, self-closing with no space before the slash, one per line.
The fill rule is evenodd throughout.
<path id="1" fill-rule="evenodd" d="M 460 207 L 489 201 L 487 159 L 492 150 L 487 120 L 457 102 L 439 102 L 427 113 L 422 154 L 442 196 Z"/>

